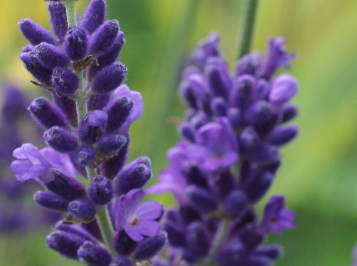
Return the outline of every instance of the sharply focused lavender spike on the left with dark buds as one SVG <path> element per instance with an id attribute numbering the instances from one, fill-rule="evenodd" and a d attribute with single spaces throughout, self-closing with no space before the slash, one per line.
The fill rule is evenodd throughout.
<path id="1" fill-rule="evenodd" d="M 33 83 L 53 95 L 54 104 L 40 97 L 28 107 L 48 147 L 23 144 L 11 168 L 19 181 L 45 188 L 34 194 L 38 205 L 64 214 L 46 238 L 51 249 L 90 266 L 149 260 L 167 236 L 162 205 L 139 204 L 152 176 L 149 158 L 125 165 L 143 100 L 124 84 L 127 68 L 117 61 L 124 33 L 118 21 L 105 20 L 104 0 L 92 0 L 78 25 L 69 25 L 76 15 L 64 3 L 49 2 L 49 12 L 55 36 L 31 19 L 19 23 L 30 42 L 20 59 Z"/>

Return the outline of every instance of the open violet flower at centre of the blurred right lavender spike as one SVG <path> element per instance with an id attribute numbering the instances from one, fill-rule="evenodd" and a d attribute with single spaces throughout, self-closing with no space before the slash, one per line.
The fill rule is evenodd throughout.
<path id="1" fill-rule="evenodd" d="M 238 142 L 231 124 L 218 118 L 201 127 L 196 134 L 190 157 L 208 172 L 226 169 L 238 160 Z"/>

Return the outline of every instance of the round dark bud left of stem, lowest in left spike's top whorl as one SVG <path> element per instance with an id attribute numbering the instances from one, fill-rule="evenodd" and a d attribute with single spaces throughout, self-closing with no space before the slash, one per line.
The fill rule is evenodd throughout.
<path id="1" fill-rule="evenodd" d="M 73 95 L 79 87 L 79 78 L 71 70 L 56 67 L 52 73 L 52 87 L 61 95 Z"/>

